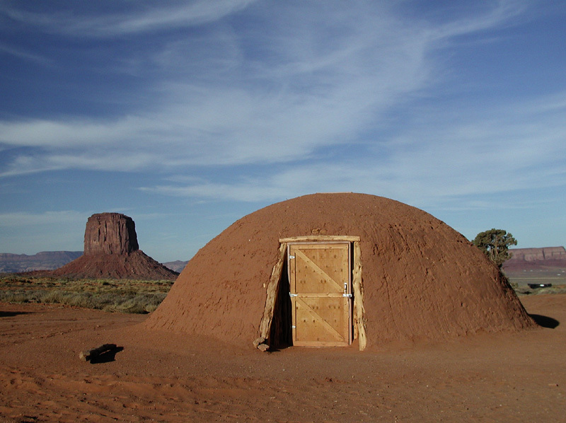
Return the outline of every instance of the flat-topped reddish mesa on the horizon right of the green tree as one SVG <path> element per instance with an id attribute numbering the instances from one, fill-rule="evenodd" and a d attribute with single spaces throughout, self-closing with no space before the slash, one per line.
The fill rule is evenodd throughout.
<path id="1" fill-rule="evenodd" d="M 503 270 L 543 270 L 549 267 L 566 267 L 564 247 L 512 248 L 511 258 L 504 262 Z"/>

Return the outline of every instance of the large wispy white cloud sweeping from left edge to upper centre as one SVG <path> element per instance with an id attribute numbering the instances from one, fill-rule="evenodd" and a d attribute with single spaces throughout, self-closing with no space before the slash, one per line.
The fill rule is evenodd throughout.
<path id="1" fill-rule="evenodd" d="M 357 23 L 344 25 L 352 29 Z M 126 151 L 154 156 L 152 161 L 140 161 L 140 168 L 149 163 L 169 167 L 304 159 L 322 146 L 350 141 L 367 122 L 379 121 L 379 112 L 397 103 L 400 95 L 422 88 L 428 78 L 424 45 L 418 37 L 404 35 L 397 40 L 388 35 L 384 42 L 380 38 L 387 28 L 366 30 L 355 38 L 337 35 L 335 47 L 328 52 L 318 51 L 325 40 L 306 42 L 299 40 L 301 35 L 289 35 L 291 45 L 294 36 L 295 45 L 301 47 L 276 47 L 272 54 L 279 57 L 277 65 L 248 64 L 235 53 L 233 62 L 224 66 L 237 69 L 236 76 L 196 76 L 187 83 L 183 75 L 158 82 L 157 104 L 139 115 L 107 121 L 0 122 L 0 142 L 41 147 L 45 163 L 54 161 L 54 150 L 57 157 L 73 156 L 63 153 L 64 149 L 79 149 L 83 156 L 91 156 L 90 161 L 69 161 L 69 168 L 78 163 L 108 168 L 118 162 L 108 160 L 110 151 L 115 151 L 115 158 L 122 158 Z M 271 34 L 270 40 L 278 36 L 283 34 Z M 230 49 L 236 48 L 233 41 L 229 44 Z M 181 50 L 168 55 L 183 57 L 185 47 L 177 45 Z M 108 154 L 97 154 L 100 147 L 109 148 Z M 19 161 L 7 174 L 63 165 L 59 161 L 56 167 L 38 167 L 28 157 Z M 25 162 L 33 168 L 23 166 Z"/>

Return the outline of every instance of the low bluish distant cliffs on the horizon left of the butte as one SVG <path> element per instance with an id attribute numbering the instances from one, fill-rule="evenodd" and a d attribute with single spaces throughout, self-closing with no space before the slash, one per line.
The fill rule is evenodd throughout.
<path id="1" fill-rule="evenodd" d="M 34 255 L 0 253 L 0 273 L 54 270 L 82 254 L 82 251 L 42 251 Z"/>

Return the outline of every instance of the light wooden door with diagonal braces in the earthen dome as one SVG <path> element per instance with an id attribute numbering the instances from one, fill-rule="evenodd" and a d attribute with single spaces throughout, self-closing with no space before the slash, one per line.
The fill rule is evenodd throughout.
<path id="1" fill-rule="evenodd" d="M 293 344 L 350 344 L 350 243 L 289 244 Z"/>

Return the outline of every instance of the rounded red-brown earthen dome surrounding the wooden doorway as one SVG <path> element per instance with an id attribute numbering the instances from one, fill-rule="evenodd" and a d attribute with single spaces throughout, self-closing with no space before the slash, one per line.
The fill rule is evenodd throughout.
<path id="1" fill-rule="evenodd" d="M 226 228 L 188 262 L 148 328 L 250 345 L 279 239 L 359 236 L 368 346 L 533 327 L 495 265 L 430 214 L 373 195 L 315 194 Z"/>

